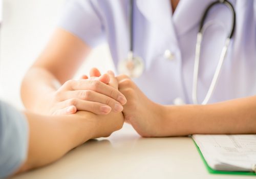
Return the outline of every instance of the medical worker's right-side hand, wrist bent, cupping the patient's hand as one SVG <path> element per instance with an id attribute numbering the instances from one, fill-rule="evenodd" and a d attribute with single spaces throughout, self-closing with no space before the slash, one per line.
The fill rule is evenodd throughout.
<path id="1" fill-rule="evenodd" d="M 148 99 L 126 75 L 119 75 L 118 89 L 126 97 L 124 120 L 142 137 L 161 137 L 163 106 Z"/>

